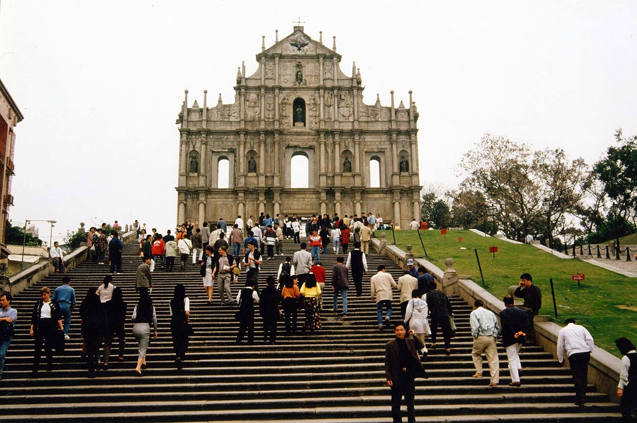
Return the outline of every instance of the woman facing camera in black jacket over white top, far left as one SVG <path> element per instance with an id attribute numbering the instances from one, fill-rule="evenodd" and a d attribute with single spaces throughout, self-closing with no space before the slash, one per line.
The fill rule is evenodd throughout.
<path id="1" fill-rule="evenodd" d="M 62 315 L 60 305 L 51 299 L 51 290 L 48 287 L 40 289 L 40 297 L 31 313 L 31 328 L 29 335 L 35 337 L 33 354 L 33 373 L 38 373 L 39 360 L 42 355 L 42 347 L 47 354 L 47 371 L 53 368 L 53 347 L 58 329 L 62 329 Z"/>

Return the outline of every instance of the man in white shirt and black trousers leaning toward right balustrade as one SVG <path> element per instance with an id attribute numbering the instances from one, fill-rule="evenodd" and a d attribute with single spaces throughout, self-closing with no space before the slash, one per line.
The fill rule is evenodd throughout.
<path id="1" fill-rule="evenodd" d="M 575 385 L 575 405 L 583 406 L 586 403 L 590 352 L 595 343 L 585 327 L 575 324 L 575 319 L 566 319 L 564 323 L 566 326 L 557 336 L 557 359 L 564 364 L 566 353 Z"/>

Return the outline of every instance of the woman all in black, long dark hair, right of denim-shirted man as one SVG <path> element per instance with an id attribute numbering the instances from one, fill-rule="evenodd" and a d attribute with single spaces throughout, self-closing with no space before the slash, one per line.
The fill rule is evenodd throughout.
<path id="1" fill-rule="evenodd" d="M 89 378 L 94 378 L 99 347 L 104 341 L 104 333 L 106 333 L 108 324 L 104 306 L 99 301 L 97 291 L 93 288 L 89 288 L 80 305 L 80 317 L 82 317 L 82 337 L 86 344 L 86 364 L 89 368 Z"/>

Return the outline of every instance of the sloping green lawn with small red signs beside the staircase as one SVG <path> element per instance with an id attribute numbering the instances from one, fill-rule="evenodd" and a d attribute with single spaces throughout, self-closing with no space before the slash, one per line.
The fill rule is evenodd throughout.
<path id="1" fill-rule="evenodd" d="M 380 238 L 382 231 L 376 231 Z M 615 339 L 626 336 L 637 341 L 637 278 L 627 278 L 593 266 L 580 259 L 558 259 L 531 245 L 515 245 L 497 238 L 483 237 L 470 231 L 448 231 L 447 238 L 440 231 L 420 231 L 429 261 L 445 270 L 443 261 L 454 259 L 460 275 L 471 275 L 473 282 L 482 285 L 474 248 L 478 251 L 487 290 L 498 298 L 506 295 L 510 285 L 520 282 L 520 275 L 528 272 L 542 290 L 541 314 L 554 317 L 549 279 L 553 278 L 558 319 L 574 317 L 578 324 L 589 329 L 596 345 L 620 356 Z M 460 242 L 458 238 L 461 237 Z M 393 243 L 387 231 L 388 243 Z M 397 231 L 396 245 L 406 250 L 413 246 L 415 257 L 425 257 L 417 231 Z M 496 246 L 496 258 L 489 247 Z M 466 250 L 462 250 L 464 247 Z M 583 273 L 585 280 L 573 281 L 573 273 Z"/>

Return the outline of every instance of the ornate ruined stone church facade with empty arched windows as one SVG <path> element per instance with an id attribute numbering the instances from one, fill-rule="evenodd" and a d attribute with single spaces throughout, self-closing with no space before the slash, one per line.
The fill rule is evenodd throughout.
<path id="1" fill-rule="evenodd" d="M 188 107 L 179 113 L 177 222 L 233 221 L 261 212 L 380 213 L 407 224 L 420 215 L 416 121 L 410 104 L 363 103 L 361 73 L 340 69 L 341 55 L 294 27 L 267 48 L 259 67 L 236 75 L 234 103 Z M 308 158 L 306 189 L 291 188 L 290 161 Z M 218 187 L 218 164 L 229 163 L 229 187 Z M 369 163 L 378 161 L 380 187 L 371 187 Z"/>

